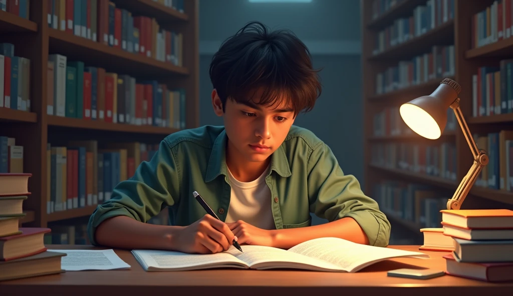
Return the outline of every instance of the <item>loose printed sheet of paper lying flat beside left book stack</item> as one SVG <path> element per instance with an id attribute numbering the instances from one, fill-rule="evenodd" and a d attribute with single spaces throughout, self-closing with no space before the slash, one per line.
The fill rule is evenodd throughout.
<path id="1" fill-rule="evenodd" d="M 49 250 L 66 253 L 61 268 L 66 271 L 128 269 L 128 265 L 113 249 L 107 250 Z"/>

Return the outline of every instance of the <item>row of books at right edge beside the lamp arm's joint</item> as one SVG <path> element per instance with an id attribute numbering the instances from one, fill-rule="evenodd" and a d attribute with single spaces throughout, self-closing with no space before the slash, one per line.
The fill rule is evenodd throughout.
<path id="1" fill-rule="evenodd" d="M 478 148 L 487 152 L 489 159 L 475 186 L 513 192 L 513 131 L 475 134 L 473 138 Z"/>

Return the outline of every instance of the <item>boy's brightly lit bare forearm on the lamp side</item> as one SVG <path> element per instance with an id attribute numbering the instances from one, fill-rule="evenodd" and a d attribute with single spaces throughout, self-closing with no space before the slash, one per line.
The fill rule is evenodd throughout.
<path id="1" fill-rule="evenodd" d="M 273 246 L 283 249 L 288 249 L 302 242 L 322 237 L 336 237 L 359 244 L 369 244 L 369 240 L 363 229 L 350 217 L 310 227 L 275 229 L 270 231 L 273 235 Z"/>

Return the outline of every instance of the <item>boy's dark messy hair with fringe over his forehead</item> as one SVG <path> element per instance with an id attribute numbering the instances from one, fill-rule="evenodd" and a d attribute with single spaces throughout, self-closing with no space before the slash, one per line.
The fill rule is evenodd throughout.
<path id="1" fill-rule="evenodd" d="M 226 39 L 210 63 L 210 80 L 225 111 L 226 100 L 244 102 L 262 89 L 259 105 L 278 107 L 285 98 L 294 110 L 313 109 L 321 95 L 310 52 L 289 30 L 269 31 L 260 22 L 247 23 Z"/>

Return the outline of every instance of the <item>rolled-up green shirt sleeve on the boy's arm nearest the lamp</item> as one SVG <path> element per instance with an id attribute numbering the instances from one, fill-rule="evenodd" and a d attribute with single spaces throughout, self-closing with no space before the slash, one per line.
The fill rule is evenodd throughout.
<path id="1" fill-rule="evenodd" d="M 373 246 L 385 247 L 390 238 L 390 222 L 378 203 L 366 196 L 353 175 L 344 175 L 331 149 L 321 143 L 308 159 L 310 212 L 328 221 L 353 218 Z"/>

